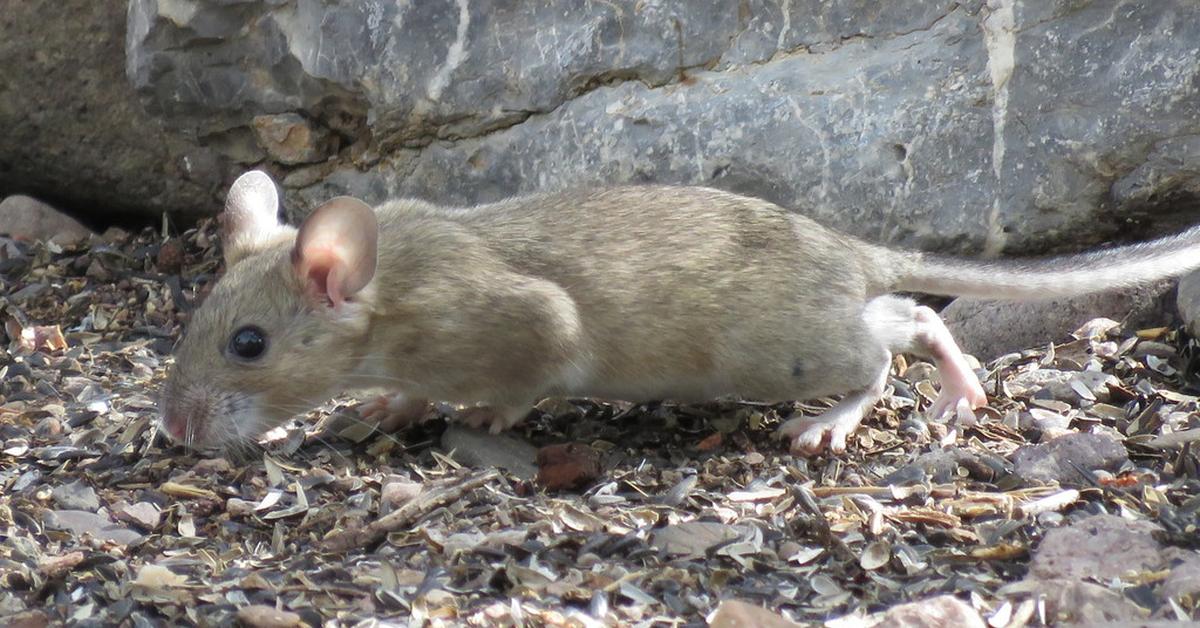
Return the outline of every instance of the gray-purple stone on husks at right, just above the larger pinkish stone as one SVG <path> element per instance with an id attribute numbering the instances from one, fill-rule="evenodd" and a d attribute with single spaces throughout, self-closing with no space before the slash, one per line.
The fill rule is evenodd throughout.
<path id="1" fill-rule="evenodd" d="M 1116 471 L 1129 460 L 1124 445 L 1103 433 L 1068 433 L 1013 451 L 1013 473 L 1026 483 L 1087 484 L 1081 471 Z"/>

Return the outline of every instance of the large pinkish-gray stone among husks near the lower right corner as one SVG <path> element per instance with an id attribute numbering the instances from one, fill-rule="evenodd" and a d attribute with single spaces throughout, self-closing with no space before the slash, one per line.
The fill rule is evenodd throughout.
<path id="1" fill-rule="evenodd" d="M 1096 515 L 1046 532 L 1030 561 L 1030 576 L 1042 580 L 1106 581 L 1127 572 L 1157 570 L 1166 556 L 1152 533 L 1158 526 Z"/>

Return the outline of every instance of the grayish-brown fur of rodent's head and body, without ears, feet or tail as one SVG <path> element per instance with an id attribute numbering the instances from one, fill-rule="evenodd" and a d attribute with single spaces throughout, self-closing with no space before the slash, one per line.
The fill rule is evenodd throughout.
<path id="1" fill-rule="evenodd" d="M 809 399 L 865 385 L 880 359 L 859 349 L 860 311 L 887 277 L 863 268 L 862 243 L 762 201 L 616 187 L 466 209 L 397 201 L 377 216 L 376 279 L 341 315 L 305 303 L 294 229 L 228 252 L 164 406 L 258 408 L 198 415 L 197 443 L 259 433 L 344 389 L 523 415 L 562 394 Z M 270 335 L 253 365 L 224 353 L 250 323 Z"/>

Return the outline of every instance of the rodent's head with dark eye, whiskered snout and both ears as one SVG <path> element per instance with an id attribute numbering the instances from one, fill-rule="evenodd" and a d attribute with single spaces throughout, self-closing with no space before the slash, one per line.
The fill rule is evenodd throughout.
<path id="1" fill-rule="evenodd" d="M 241 175 L 221 216 L 226 273 L 193 312 L 160 401 L 162 429 L 198 449 L 252 442 L 337 391 L 364 353 L 378 222 L 338 197 L 299 229 L 266 174 Z"/>

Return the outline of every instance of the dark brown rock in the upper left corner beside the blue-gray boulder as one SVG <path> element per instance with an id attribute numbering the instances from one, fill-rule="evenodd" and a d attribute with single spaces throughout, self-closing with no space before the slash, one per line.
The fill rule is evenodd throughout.
<path id="1" fill-rule="evenodd" d="M 97 223 L 220 207 L 227 157 L 148 113 L 125 76 L 127 5 L 5 2 L 0 59 L 20 71 L 0 80 L 0 196 L 31 195 Z"/>

